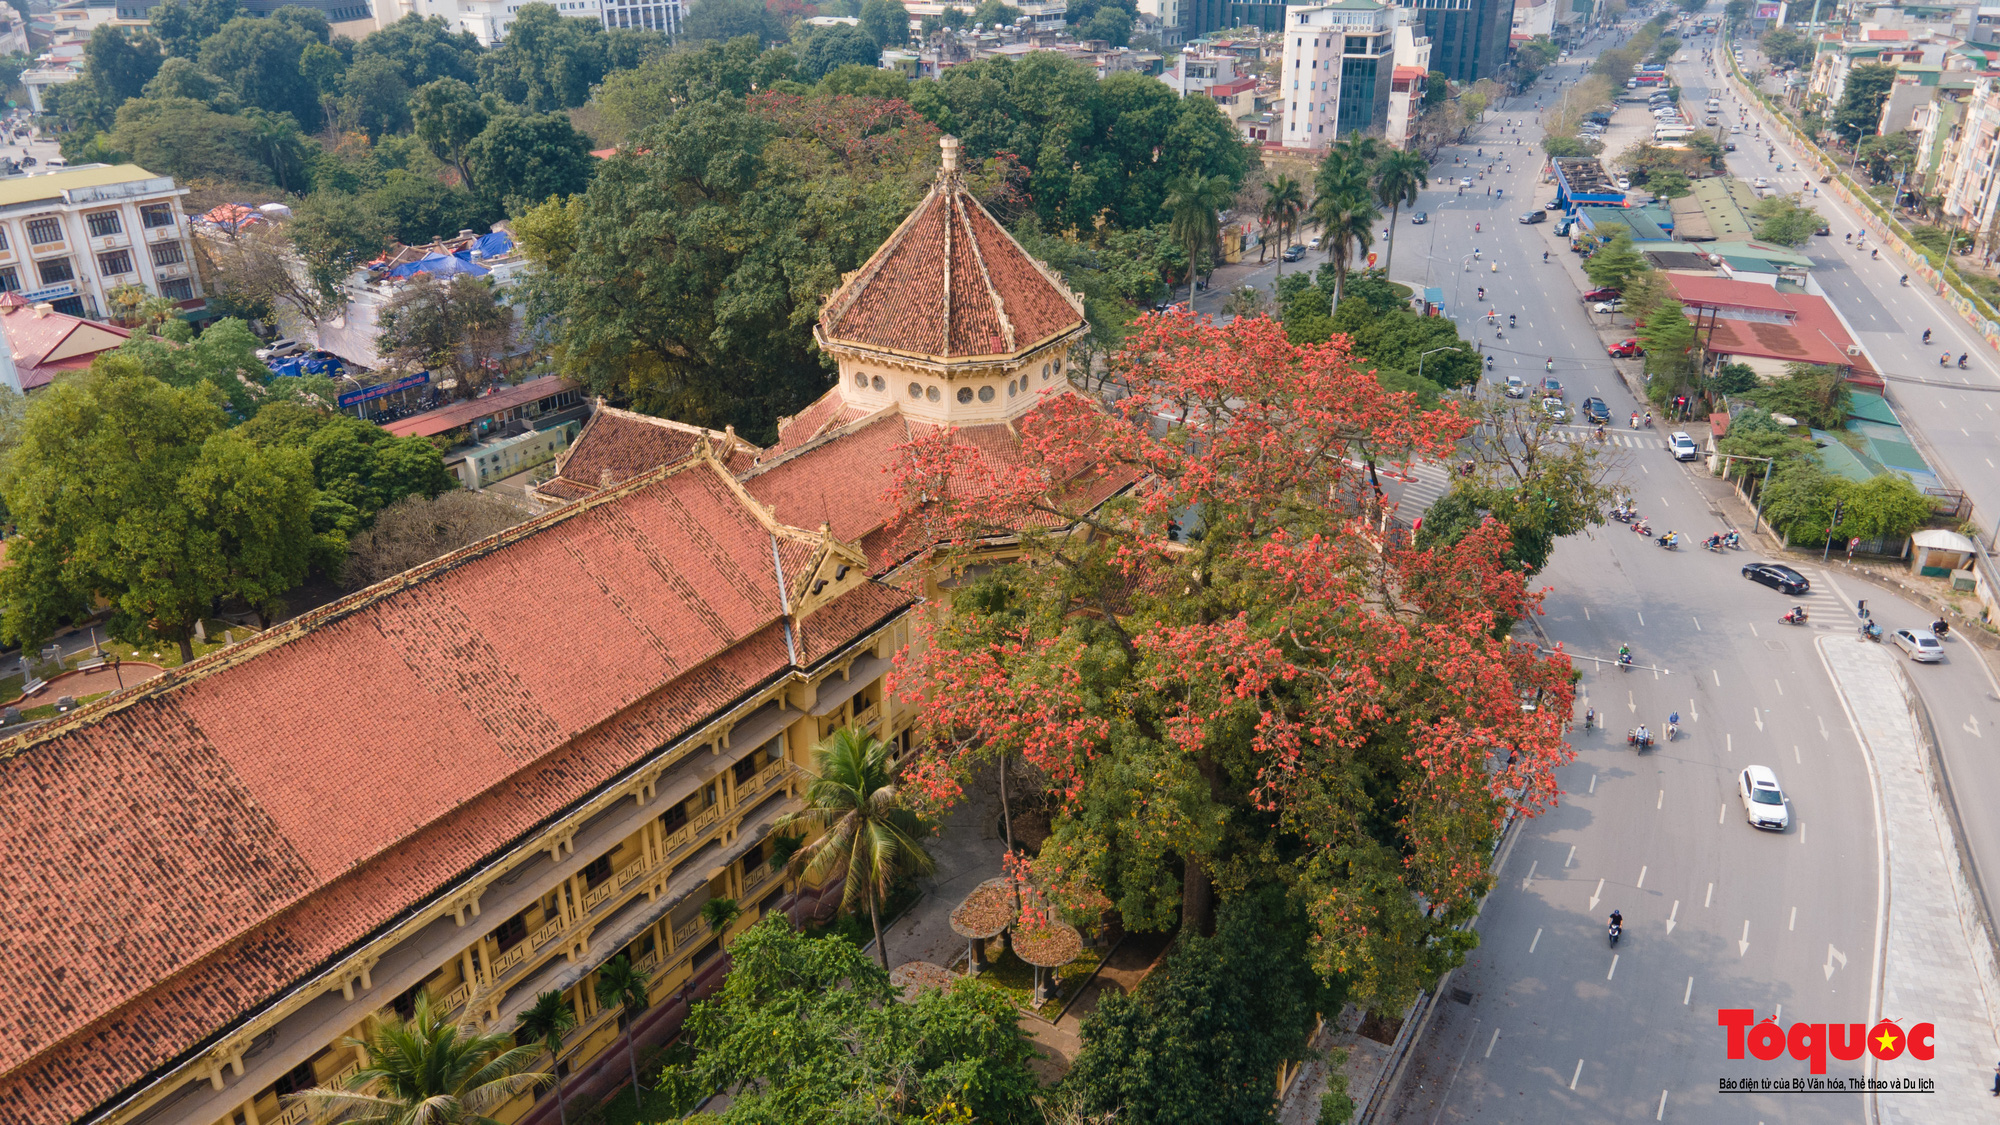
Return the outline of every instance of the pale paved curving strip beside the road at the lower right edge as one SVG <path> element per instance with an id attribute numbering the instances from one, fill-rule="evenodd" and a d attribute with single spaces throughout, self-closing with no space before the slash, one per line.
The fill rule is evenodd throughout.
<path id="1" fill-rule="evenodd" d="M 1844 595 L 1842 595 L 1844 597 Z M 1994 1001 L 2000 967 L 1984 937 L 1970 933 L 1976 911 L 1958 865 L 1958 849 L 1930 779 L 1930 757 L 1918 741 L 1914 709 L 1900 663 L 1884 645 L 1846 635 L 1818 641 L 1842 705 L 1854 721 L 1876 777 L 1888 925 L 1882 941 L 1878 1013 L 1902 1027 L 1936 1025 L 1936 1059 L 1908 1055 L 1876 1063 L 1874 1077 L 1930 1079 L 1932 1097 L 1876 1097 L 1878 1121 L 1936 1125 L 1992 1121 L 1986 1089 L 2000 1057 Z"/>

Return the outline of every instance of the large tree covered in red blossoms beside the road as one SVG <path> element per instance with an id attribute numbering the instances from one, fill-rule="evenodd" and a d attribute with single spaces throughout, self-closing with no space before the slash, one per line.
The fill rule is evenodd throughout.
<path id="1" fill-rule="evenodd" d="M 1570 755 L 1568 663 L 1504 635 L 1538 601 L 1506 528 L 1384 532 L 1370 466 L 1448 456 L 1468 424 L 1266 318 L 1146 318 L 1114 368 L 1112 412 L 1052 394 L 1014 456 L 906 448 L 912 534 L 980 562 L 902 657 L 926 705 L 908 791 L 948 803 L 1020 761 L 1058 799 L 1034 861 L 1054 903 L 1206 929 L 1216 887 L 1280 881 L 1318 969 L 1394 1007 L 1462 957 L 1504 817 L 1546 809 Z"/>

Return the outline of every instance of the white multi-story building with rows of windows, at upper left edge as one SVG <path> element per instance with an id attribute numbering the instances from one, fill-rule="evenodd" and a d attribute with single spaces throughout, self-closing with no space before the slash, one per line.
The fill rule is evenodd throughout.
<path id="1" fill-rule="evenodd" d="M 200 280 L 170 176 L 136 164 L 80 164 L 0 180 L 0 292 L 102 318 L 122 284 L 190 304 Z"/>

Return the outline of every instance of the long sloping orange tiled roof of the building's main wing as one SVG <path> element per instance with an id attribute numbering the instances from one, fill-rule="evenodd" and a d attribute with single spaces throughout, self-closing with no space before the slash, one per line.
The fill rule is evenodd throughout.
<path id="1" fill-rule="evenodd" d="M 282 995 L 784 675 L 788 627 L 818 659 L 910 605 L 792 623 L 774 546 L 794 585 L 824 538 L 746 500 L 698 450 L 0 745 L 0 1121 Z"/>

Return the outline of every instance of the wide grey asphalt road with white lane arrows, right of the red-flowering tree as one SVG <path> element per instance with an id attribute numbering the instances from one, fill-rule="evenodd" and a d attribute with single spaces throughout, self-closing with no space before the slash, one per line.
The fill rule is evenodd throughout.
<path id="1" fill-rule="evenodd" d="M 1518 160 L 1514 178 L 1532 180 L 1530 162 Z M 1532 380 L 1552 356 L 1572 402 L 1598 394 L 1622 418 L 1638 402 L 1602 356 L 1574 282 L 1542 266 L 1548 226 L 1512 222 L 1530 204 L 1530 184 L 1516 194 L 1514 178 L 1502 172 L 1504 202 L 1458 196 L 1456 186 L 1450 196 L 1428 194 L 1432 224 L 1398 244 L 1398 258 L 1424 242 L 1430 284 L 1446 288 L 1460 320 L 1464 308 L 1480 310 L 1476 284 L 1488 286 L 1502 316 L 1518 310 L 1518 334 L 1468 328 L 1482 332 L 1496 374 Z M 1484 272 L 1464 270 L 1472 246 Z M 1486 260 L 1498 260 L 1500 272 Z M 1670 460 L 1654 434 L 1620 436 L 1632 440 L 1612 452 L 1614 474 L 1656 530 L 1698 540 L 1734 524 L 1738 508 L 1724 484 Z M 1458 995 L 1440 1005 L 1388 1119 L 1862 1119 L 1862 1099 L 1852 1095 L 1722 1093 L 1724 1077 L 1790 1079 L 1808 1069 L 1792 1059 L 1728 1061 L 1716 1009 L 1750 1007 L 1782 1021 L 1874 1015 L 1874 801 L 1814 637 L 1862 643 L 1852 637 L 1856 597 L 1888 629 L 1922 625 L 1926 615 L 1812 567 L 1812 595 L 1786 599 L 1740 577 L 1750 558 L 1668 552 L 1622 524 L 1556 548 L 1544 573 L 1554 591 L 1544 625 L 1582 671 L 1578 719 L 1596 707 L 1610 731 L 1574 733 L 1578 755 L 1560 773 L 1562 805 L 1522 825 L 1502 853 L 1480 949 L 1452 977 Z M 1794 601 L 1812 613 L 1808 627 L 1778 621 Z M 1634 671 L 1612 663 L 1620 643 L 1632 645 Z M 1948 653 L 1944 665 L 1914 669 L 1940 733 L 1968 709 L 1966 727 L 1990 729 L 1984 665 L 1962 641 L 1948 643 Z M 1676 709 L 1676 743 L 1650 753 L 1624 745 L 1628 727 L 1660 733 Z M 1736 777 L 1752 763 L 1770 767 L 1790 797 L 1784 833 L 1744 823 Z M 1626 915 L 1626 935 L 1610 949 L 1604 917 L 1614 907 Z M 1858 1075 L 1858 1067 L 1830 1063 L 1830 1075 Z"/>

